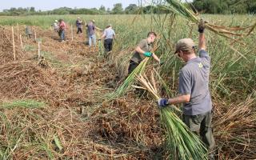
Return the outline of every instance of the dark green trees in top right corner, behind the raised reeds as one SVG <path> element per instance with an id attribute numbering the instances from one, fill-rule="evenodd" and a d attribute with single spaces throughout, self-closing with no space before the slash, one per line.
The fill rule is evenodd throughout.
<path id="1" fill-rule="evenodd" d="M 206 14 L 256 14 L 256 0 L 194 0 L 192 5 Z"/>

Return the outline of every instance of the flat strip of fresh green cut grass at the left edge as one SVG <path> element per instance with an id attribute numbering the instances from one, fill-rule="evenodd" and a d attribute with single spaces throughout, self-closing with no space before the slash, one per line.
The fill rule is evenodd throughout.
<path id="1" fill-rule="evenodd" d="M 2 102 L 0 108 L 2 109 L 12 109 L 12 108 L 43 108 L 46 106 L 44 102 L 38 102 L 33 99 L 18 99 L 13 102 Z"/>

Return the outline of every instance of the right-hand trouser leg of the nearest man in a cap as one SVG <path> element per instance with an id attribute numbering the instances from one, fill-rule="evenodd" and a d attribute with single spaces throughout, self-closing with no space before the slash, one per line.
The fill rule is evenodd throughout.
<path id="1" fill-rule="evenodd" d="M 202 137 L 202 142 L 205 143 L 208 151 L 209 152 L 213 151 L 215 146 L 215 141 L 214 141 L 213 128 L 212 128 L 211 112 L 206 113 L 205 118 L 202 120 L 200 135 Z"/>

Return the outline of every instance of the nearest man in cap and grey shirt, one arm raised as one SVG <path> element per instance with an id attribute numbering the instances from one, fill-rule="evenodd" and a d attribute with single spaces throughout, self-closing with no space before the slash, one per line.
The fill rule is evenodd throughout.
<path id="1" fill-rule="evenodd" d="M 160 108 L 183 103 L 183 122 L 198 134 L 205 143 L 209 153 L 214 150 L 215 141 L 212 130 L 212 102 L 209 90 L 210 56 L 206 51 L 204 34 L 205 22 L 198 25 L 199 57 L 195 54 L 194 42 L 184 38 L 177 42 L 175 54 L 186 65 L 179 73 L 178 96 L 158 99 Z M 213 157 L 213 154 L 209 154 Z M 212 158 L 211 158 L 212 159 Z"/>

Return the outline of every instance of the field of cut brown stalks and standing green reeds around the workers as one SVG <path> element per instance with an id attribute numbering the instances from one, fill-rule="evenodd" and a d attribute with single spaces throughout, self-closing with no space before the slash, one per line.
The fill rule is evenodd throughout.
<path id="1" fill-rule="evenodd" d="M 117 39 L 114 41 L 113 54 L 107 62 L 98 56 L 99 50 L 90 50 L 84 46 L 82 42 L 86 41 L 85 34 L 82 38 L 76 36 L 75 41 L 68 44 L 59 44 L 52 40 L 51 34 L 56 35 L 50 30 L 50 25 L 55 19 L 63 18 L 68 23 L 66 35 L 70 39 L 70 26 L 73 25 L 75 30 L 74 22 L 78 16 L 86 22 L 94 19 L 96 26 L 102 29 L 112 24 Z M 203 15 L 203 18 L 222 26 L 250 26 L 256 22 L 256 16 L 253 15 Z M 158 68 L 158 71 L 166 81 L 170 92 L 177 94 L 178 71 L 184 64 L 173 54 L 174 43 L 180 38 L 193 38 L 198 43 L 195 24 L 186 22 L 181 17 L 173 19 L 170 15 L 155 14 L 0 17 L 0 25 L 7 30 L 10 30 L 10 26 L 14 26 L 14 32 L 18 25 L 23 35 L 25 34 L 24 25 L 34 26 L 38 30 L 38 37 L 43 39 L 42 52 L 46 53 L 46 61 L 50 63 L 54 72 L 58 73 L 51 77 L 53 79 L 50 79 L 49 83 L 56 82 L 54 87 L 63 83 L 63 86 L 57 87 L 58 90 L 50 90 L 44 82 L 40 83 L 38 78 L 35 78 L 34 83 L 47 90 L 47 96 L 38 96 L 41 95 L 39 89 L 31 89 L 31 94 L 29 91 L 28 94 L 22 94 L 26 90 L 24 89 L 21 94 L 17 94 L 18 99 L 34 99 L 40 104 L 42 101 L 46 102 L 46 106 L 38 108 L 33 107 L 37 102 L 16 101 L 14 96 L 7 95 L 8 92 L 0 87 L 2 89 L 0 91 L 0 98 L 2 98 L 0 132 L 4 133 L 2 134 L 4 136 L 0 137 L 0 157 L 6 159 L 168 158 L 168 153 L 162 153 L 162 133 L 155 120 L 159 115 L 156 114 L 157 110 L 148 108 L 148 106 L 155 107 L 150 99 L 129 93 L 110 104 L 102 104 L 104 101 L 102 93 L 107 94 L 113 91 L 113 88 L 106 86 L 111 78 L 113 80 L 114 77 L 120 79 L 126 77 L 128 61 L 134 46 L 142 38 L 146 38 L 148 31 L 154 30 L 159 35 L 156 54 L 166 62 L 164 66 Z M 256 34 L 254 32 L 240 39 L 246 43 L 242 45 L 206 31 L 206 45 L 211 56 L 210 90 L 214 102 L 214 137 L 218 143 L 218 159 L 256 158 L 256 110 L 254 107 L 256 105 Z M 1 40 L 3 39 L 4 37 L 1 37 Z M 27 47 L 34 50 L 22 49 L 23 55 L 28 53 L 36 55 L 37 43 L 24 41 Z M 0 53 L 2 57 L 5 54 L 12 54 L 11 49 L 8 53 L 0 51 L 2 51 L 2 54 Z M 78 54 L 78 51 L 85 55 Z M 94 65 L 91 66 L 90 63 Z M 12 78 L 6 78 L 3 74 L 9 73 L 11 68 L 18 70 L 21 66 L 11 62 L 2 62 L 0 66 L 2 69 L 0 85 L 9 85 L 6 81 L 11 81 Z M 37 68 L 33 65 L 31 67 Z M 30 73 L 27 76 L 34 74 L 33 70 L 26 67 L 25 69 Z M 37 70 L 46 74 L 41 69 Z M 79 77 L 79 70 L 82 70 L 82 77 Z M 84 70 L 88 73 L 85 74 Z M 51 72 L 53 71 L 46 75 Z M 102 72 L 105 76 L 99 75 Z M 13 74 L 15 72 L 10 73 L 10 76 Z M 19 79 L 21 78 L 23 77 Z M 44 76 L 42 79 L 46 78 L 47 76 Z M 46 82 L 48 83 L 47 79 Z M 70 84 L 67 85 L 67 82 Z M 24 83 L 25 86 L 22 87 L 30 88 L 26 85 L 34 83 L 32 81 Z M 114 81 L 114 83 L 117 82 Z M 84 90 L 86 92 L 83 92 Z M 48 95 L 52 95 L 54 99 L 50 99 Z M 163 95 L 170 96 L 166 93 Z M 138 105 L 141 101 L 145 105 Z M 30 104 L 26 105 L 26 102 Z M 57 109 L 56 106 L 58 106 Z M 78 114 L 80 106 L 83 106 L 82 115 Z M 47 110 L 50 109 L 47 107 L 54 109 L 48 113 Z M 62 123 L 65 119 L 64 115 L 71 119 L 70 122 Z M 48 119 L 50 124 L 47 122 Z M 35 126 L 33 122 L 36 122 Z M 75 128 L 73 123 L 78 127 Z M 94 124 L 97 124 L 98 128 Z M 15 131 L 14 126 L 18 131 Z M 88 130 L 83 127 L 87 127 Z M 38 134 L 42 129 L 49 133 Z M 152 130 L 152 133 L 149 133 L 149 130 Z M 83 132 L 84 136 L 81 135 Z M 157 146 L 158 150 L 153 149 L 155 147 L 152 146 Z M 83 150 L 80 150 L 80 147 Z"/>

